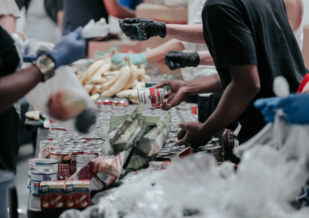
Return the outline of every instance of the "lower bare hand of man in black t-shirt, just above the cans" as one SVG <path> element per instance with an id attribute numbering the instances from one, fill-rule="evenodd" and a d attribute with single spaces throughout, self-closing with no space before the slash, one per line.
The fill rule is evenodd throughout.
<path id="1" fill-rule="evenodd" d="M 177 145 L 185 145 L 186 147 L 198 148 L 206 145 L 213 137 L 203 130 L 203 124 L 197 122 L 178 123 L 178 127 L 187 130 L 184 138 L 176 140 Z"/>

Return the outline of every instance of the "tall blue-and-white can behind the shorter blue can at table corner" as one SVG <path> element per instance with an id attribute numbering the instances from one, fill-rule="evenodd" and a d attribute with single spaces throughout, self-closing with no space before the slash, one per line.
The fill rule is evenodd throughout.
<path id="1" fill-rule="evenodd" d="M 47 158 L 30 158 L 28 160 L 28 188 L 31 189 L 31 171 L 34 169 L 58 170 L 58 161 Z"/>

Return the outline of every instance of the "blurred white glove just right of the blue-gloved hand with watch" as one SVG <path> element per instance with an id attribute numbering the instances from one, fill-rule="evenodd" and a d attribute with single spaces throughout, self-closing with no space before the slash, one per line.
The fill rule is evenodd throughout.
<path id="1" fill-rule="evenodd" d="M 98 22 L 91 19 L 89 23 L 84 26 L 82 31 L 82 37 L 84 39 L 105 37 L 108 35 L 108 29 L 111 25 L 106 23 L 105 18 L 101 18 Z"/>

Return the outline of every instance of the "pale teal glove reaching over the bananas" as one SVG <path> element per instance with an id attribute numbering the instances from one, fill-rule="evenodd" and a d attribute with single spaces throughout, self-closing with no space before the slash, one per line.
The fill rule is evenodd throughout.
<path id="1" fill-rule="evenodd" d="M 112 63 L 117 64 L 117 68 L 121 68 L 123 65 L 125 65 L 125 57 L 128 57 L 129 60 L 134 65 L 138 64 L 148 64 L 147 59 L 145 57 L 145 52 L 137 53 L 137 54 L 131 54 L 131 53 L 115 53 L 111 60 Z"/>

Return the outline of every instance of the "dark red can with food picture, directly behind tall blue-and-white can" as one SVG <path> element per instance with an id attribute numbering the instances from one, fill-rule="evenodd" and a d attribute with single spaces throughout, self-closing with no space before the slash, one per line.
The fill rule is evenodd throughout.
<path id="1" fill-rule="evenodd" d="M 65 149 L 52 149 L 49 151 L 49 158 L 58 161 L 58 180 L 60 177 L 70 175 L 72 152 Z"/>

